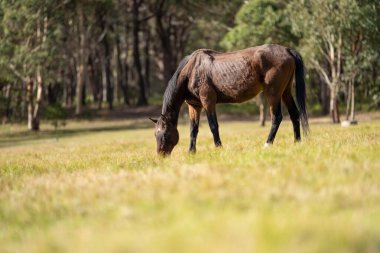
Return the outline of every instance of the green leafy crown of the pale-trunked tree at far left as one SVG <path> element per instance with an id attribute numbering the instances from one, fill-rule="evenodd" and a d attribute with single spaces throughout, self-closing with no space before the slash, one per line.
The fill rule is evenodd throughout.
<path id="1" fill-rule="evenodd" d="M 15 78 L 34 75 L 37 65 L 47 66 L 57 59 L 60 33 L 54 22 L 49 23 L 49 30 L 44 30 L 43 24 L 44 17 L 54 20 L 52 15 L 59 14 L 52 12 L 55 3 L 51 0 L 1 2 L 0 64 Z"/>

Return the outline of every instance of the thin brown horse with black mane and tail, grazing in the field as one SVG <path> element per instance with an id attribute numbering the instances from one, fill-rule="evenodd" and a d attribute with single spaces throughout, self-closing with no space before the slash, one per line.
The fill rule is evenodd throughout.
<path id="1" fill-rule="evenodd" d="M 292 97 L 295 76 L 297 105 Z M 215 106 L 217 103 L 241 103 L 264 92 L 268 99 L 272 127 L 265 146 L 273 143 L 282 121 L 281 100 L 293 123 L 295 141 L 308 133 L 304 65 L 293 49 L 280 45 L 262 45 L 236 52 L 219 53 L 199 49 L 185 57 L 169 81 L 164 94 L 161 117 L 156 124 L 157 152 L 169 155 L 178 143 L 178 115 L 184 101 L 189 106 L 190 152 L 196 150 L 199 117 L 202 108 L 215 146 L 221 146 Z"/>

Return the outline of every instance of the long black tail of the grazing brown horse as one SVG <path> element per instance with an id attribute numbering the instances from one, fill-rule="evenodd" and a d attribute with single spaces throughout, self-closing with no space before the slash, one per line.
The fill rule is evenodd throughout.
<path id="1" fill-rule="evenodd" d="M 302 130 L 304 135 L 309 133 L 309 122 L 306 111 L 306 88 L 305 88 L 305 73 L 304 64 L 301 55 L 293 50 L 288 49 L 288 52 L 293 56 L 296 69 L 295 69 L 295 79 L 296 79 L 296 98 L 300 111 L 300 120 L 302 125 Z"/>

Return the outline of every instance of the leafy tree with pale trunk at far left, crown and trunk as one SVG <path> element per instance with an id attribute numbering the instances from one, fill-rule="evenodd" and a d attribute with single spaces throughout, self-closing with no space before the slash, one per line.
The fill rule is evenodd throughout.
<path id="1" fill-rule="evenodd" d="M 0 3 L 0 64 L 25 87 L 30 130 L 39 130 L 43 88 L 50 74 L 47 67 L 55 62 L 56 6 L 52 0 Z"/>

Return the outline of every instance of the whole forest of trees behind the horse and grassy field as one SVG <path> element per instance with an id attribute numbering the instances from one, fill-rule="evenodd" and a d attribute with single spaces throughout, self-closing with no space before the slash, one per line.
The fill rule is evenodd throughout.
<path id="1" fill-rule="evenodd" d="M 158 105 L 185 55 L 264 43 L 303 55 L 312 115 L 355 120 L 380 108 L 379 11 L 375 0 L 3 0 L 2 123 L 39 130 Z"/>

